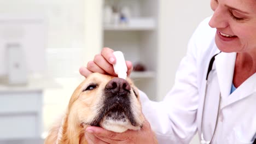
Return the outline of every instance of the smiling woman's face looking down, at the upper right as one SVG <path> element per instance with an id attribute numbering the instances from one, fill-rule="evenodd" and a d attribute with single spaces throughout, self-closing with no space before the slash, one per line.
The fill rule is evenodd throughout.
<path id="1" fill-rule="evenodd" d="M 220 51 L 256 51 L 256 0 L 211 0 L 211 8 L 209 25 L 217 29 Z"/>

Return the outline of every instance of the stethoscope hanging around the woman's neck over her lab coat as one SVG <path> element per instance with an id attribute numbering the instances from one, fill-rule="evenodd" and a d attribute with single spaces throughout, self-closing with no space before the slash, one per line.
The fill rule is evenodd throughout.
<path id="1" fill-rule="evenodd" d="M 220 51 L 221 52 L 221 51 Z M 219 52 L 219 53 L 220 53 Z M 213 140 L 213 137 L 216 133 L 216 129 L 217 129 L 217 125 L 218 125 L 218 118 L 219 118 L 219 109 L 220 109 L 220 101 L 221 101 L 221 93 L 219 93 L 219 105 L 218 105 L 218 111 L 217 111 L 217 118 L 216 118 L 216 123 L 215 123 L 215 126 L 214 126 L 214 131 L 213 131 L 213 134 L 212 134 L 212 137 L 210 139 L 210 141 L 207 141 L 205 140 L 205 137 L 203 136 L 203 133 L 202 133 L 202 127 L 203 127 L 203 117 L 204 117 L 204 111 L 205 111 L 205 100 L 206 100 L 206 96 L 207 96 L 207 88 L 208 88 L 208 76 L 212 70 L 212 67 L 213 67 L 213 63 L 215 61 L 215 57 L 217 55 L 219 55 L 219 53 L 217 53 L 216 55 L 214 55 L 211 60 L 210 60 L 210 63 L 208 65 L 208 70 L 207 70 L 207 75 L 206 75 L 206 87 L 205 87 L 205 98 L 203 100 L 203 107 L 202 107 L 202 117 L 201 117 L 201 144 L 211 144 L 212 143 L 212 140 Z M 254 140 L 253 144 L 256 144 L 256 139 Z"/>

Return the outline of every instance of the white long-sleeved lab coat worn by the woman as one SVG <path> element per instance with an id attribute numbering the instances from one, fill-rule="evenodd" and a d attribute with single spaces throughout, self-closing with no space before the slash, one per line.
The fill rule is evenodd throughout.
<path id="1" fill-rule="evenodd" d="M 175 85 L 165 99 L 156 103 L 140 94 L 143 113 L 159 143 L 189 143 L 197 131 L 201 135 L 206 73 L 210 59 L 219 52 L 214 42 L 216 29 L 208 26 L 209 20 L 202 21 L 191 37 Z M 220 53 L 208 78 L 207 99 L 211 100 L 205 102 L 205 136 L 213 133 L 221 93 L 213 143 L 252 143 L 256 133 L 256 74 L 230 94 L 235 59 L 236 53 Z"/>

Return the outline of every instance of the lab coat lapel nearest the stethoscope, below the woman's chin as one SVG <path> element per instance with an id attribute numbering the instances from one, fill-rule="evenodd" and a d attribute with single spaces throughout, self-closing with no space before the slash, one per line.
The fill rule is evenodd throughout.
<path id="1" fill-rule="evenodd" d="M 223 101 L 230 95 L 234 68 L 235 68 L 236 53 L 221 52 L 216 56 L 216 71 L 219 81 L 219 88 Z"/>

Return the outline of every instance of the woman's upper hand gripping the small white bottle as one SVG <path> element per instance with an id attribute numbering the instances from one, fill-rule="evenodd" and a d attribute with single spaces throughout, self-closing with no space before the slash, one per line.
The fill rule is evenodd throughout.
<path id="1" fill-rule="evenodd" d="M 113 55 L 114 50 L 104 47 L 101 53 L 94 57 L 93 61 L 87 63 L 87 67 L 81 67 L 79 72 L 81 75 L 88 77 L 91 73 L 97 72 L 101 74 L 107 74 L 112 76 L 117 76 L 114 72 L 113 64 L 115 64 L 116 59 Z M 131 74 L 132 63 L 126 61 L 127 66 L 127 76 Z"/>

